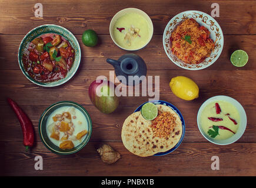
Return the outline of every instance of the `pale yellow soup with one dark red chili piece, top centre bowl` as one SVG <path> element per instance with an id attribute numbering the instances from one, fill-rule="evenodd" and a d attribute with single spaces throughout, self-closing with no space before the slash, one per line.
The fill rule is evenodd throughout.
<path id="1" fill-rule="evenodd" d="M 147 19 L 134 12 L 118 18 L 113 28 L 115 42 L 131 50 L 142 48 L 148 42 L 150 33 Z"/>

